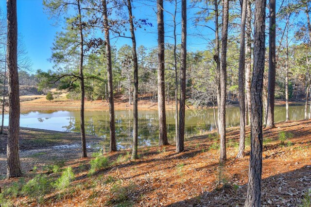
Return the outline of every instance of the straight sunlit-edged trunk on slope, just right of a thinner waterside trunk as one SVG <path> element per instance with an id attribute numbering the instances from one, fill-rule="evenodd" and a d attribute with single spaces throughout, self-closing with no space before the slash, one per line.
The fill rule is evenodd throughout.
<path id="1" fill-rule="evenodd" d="M 223 0 L 223 28 L 222 28 L 222 55 L 220 69 L 220 161 L 226 159 L 225 146 L 225 102 L 226 102 L 226 77 L 227 77 L 227 38 L 228 38 L 229 0 Z"/>

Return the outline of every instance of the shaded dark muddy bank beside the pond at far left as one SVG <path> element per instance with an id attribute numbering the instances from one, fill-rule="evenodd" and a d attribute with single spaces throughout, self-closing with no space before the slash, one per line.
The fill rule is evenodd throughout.
<path id="1" fill-rule="evenodd" d="M 34 166 L 44 167 L 55 161 L 69 161 L 81 155 L 80 134 L 57 132 L 52 130 L 20 128 L 19 150 L 20 162 L 24 173 Z M 100 143 L 101 139 L 87 136 L 88 153 L 97 151 L 90 145 Z M 6 175 L 7 131 L 0 135 L 0 176 Z"/>

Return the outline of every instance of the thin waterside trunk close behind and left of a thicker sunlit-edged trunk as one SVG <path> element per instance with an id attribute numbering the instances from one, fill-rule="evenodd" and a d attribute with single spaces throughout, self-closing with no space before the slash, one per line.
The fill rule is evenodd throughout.
<path id="1" fill-rule="evenodd" d="M 215 6 L 215 56 L 214 60 L 216 61 L 216 84 L 217 84 L 217 106 L 218 106 L 218 112 L 220 107 L 220 56 L 219 56 L 219 24 L 218 24 L 218 0 L 214 0 L 214 6 Z M 220 113 L 217 113 L 217 120 L 218 123 L 220 122 Z M 218 133 L 219 127 L 218 125 Z"/>

